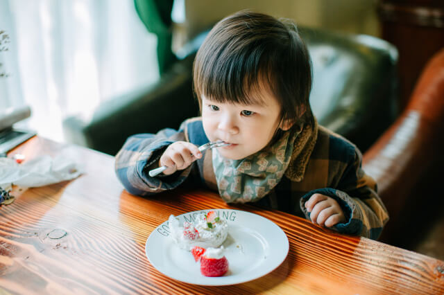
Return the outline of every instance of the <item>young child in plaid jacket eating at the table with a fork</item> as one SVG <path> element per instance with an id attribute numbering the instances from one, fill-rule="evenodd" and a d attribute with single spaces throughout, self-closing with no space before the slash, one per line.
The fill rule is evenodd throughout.
<path id="1" fill-rule="evenodd" d="M 194 178 L 225 202 L 257 202 L 377 239 L 388 214 L 375 181 L 361 170 L 355 145 L 317 125 L 310 90 L 311 61 L 296 25 L 237 12 L 214 26 L 196 55 L 202 116 L 178 131 L 130 136 L 116 157 L 117 176 L 135 195 Z M 219 140 L 229 145 L 198 151 Z M 160 166 L 167 170 L 149 177 Z"/>

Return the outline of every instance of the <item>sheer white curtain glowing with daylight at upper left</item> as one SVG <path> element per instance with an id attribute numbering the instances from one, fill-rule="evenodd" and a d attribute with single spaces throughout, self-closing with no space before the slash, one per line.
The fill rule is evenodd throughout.
<path id="1" fill-rule="evenodd" d="M 158 79 L 156 37 L 133 0 L 0 0 L 1 30 L 0 109 L 30 105 L 26 125 L 46 138 L 63 141 L 66 116 Z"/>

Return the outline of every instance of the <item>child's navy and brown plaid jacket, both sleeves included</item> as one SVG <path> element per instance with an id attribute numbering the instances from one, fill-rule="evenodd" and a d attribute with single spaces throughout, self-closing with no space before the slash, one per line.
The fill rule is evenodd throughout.
<path id="1" fill-rule="evenodd" d="M 164 150 L 175 141 L 189 141 L 195 145 L 207 143 L 201 118 L 185 120 L 178 131 L 162 129 L 157 134 L 137 134 L 126 140 L 116 156 L 115 170 L 129 193 L 142 196 L 161 193 L 177 188 L 190 177 L 217 191 L 211 150 L 185 170 L 169 176 L 149 177 L 148 171 L 157 167 Z M 334 198 L 345 215 L 346 221 L 332 229 L 377 239 L 388 221 L 388 213 L 376 193 L 375 181 L 361 169 L 361 158 L 355 145 L 319 126 L 302 180 L 282 177 L 271 193 L 257 204 L 309 219 L 305 202 L 314 193 L 321 193 Z"/>

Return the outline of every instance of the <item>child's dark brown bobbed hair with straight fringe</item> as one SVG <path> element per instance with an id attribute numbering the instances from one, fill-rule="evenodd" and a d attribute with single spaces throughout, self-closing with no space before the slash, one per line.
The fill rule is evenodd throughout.
<path id="1" fill-rule="evenodd" d="M 311 60 L 296 24 L 243 10 L 219 21 L 200 46 L 194 91 L 199 105 L 201 95 L 217 102 L 260 104 L 262 98 L 252 94 L 261 82 L 282 106 L 281 120 L 313 125 Z"/>

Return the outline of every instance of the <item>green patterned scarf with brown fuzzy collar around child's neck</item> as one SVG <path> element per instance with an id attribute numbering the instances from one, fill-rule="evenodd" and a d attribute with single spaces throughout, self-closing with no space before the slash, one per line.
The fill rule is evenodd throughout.
<path id="1" fill-rule="evenodd" d="M 314 127 L 295 126 L 287 130 L 273 145 L 245 159 L 225 159 L 217 152 L 217 149 L 212 150 L 214 175 L 219 195 L 227 203 L 252 202 L 270 193 L 284 173 L 287 175 L 290 172 L 291 175 L 287 175 L 289 179 L 300 181 L 302 179 L 300 175 L 305 172 L 316 137 L 317 124 L 315 122 Z M 297 142 L 296 138 L 298 138 Z M 298 165 L 299 167 L 291 167 L 287 171 L 291 162 L 301 164 L 302 167 Z"/>

